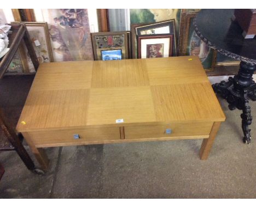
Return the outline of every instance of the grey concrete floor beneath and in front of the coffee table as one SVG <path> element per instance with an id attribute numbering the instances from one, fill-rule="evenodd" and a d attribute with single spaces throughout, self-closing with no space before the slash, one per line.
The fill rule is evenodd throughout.
<path id="1" fill-rule="evenodd" d="M 247 145 L 241 111 L 219 101 L 226 121 L 206 161 L 201 139 L 68 146 L 46 149 L 50 168 L 40 176 L 5 151 L 0 198 L 256 198 L 256 102 Z"/>

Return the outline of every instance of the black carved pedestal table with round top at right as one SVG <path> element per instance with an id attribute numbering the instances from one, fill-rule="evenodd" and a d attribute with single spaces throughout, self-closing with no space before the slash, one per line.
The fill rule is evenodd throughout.
<path id="1" fill-rule="evenodd" d="M 244 39 L 243 30 L 231 18 L 234 9 L 202 9 L 194 20 L 195 32 L 202 41 L 225 56 L 240 60 L 240 69 L 228 82 L 213 84 L 213 89 L 229 103 L 229 109 L 242 110 L 243 142 L 251 142 L 252 124 L 249 99 L 256 100 L 256 39 Z"/>

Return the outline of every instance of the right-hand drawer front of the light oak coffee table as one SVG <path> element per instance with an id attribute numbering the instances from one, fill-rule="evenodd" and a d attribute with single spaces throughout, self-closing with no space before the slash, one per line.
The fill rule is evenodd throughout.
<path id="1" fill-rule="evenodd" d="M 197 122 L 174 123 L 166 125 L 127 126 L 124 128 L 124 133 L 125 139 L 163 137 L 188 137 L 196 139 L 197 137 L 202 138 L 205 136 L 209 136 L 212 125 L 212 122 Z M 168 130 L 171 130 L 171 133 L 168 133 Z"/>

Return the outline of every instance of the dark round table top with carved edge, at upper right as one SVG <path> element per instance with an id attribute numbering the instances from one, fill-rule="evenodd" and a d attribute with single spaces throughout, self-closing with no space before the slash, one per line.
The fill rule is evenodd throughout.
<path id="1" fill-rule="evenodd" d="M 194 21 L 195 32 L 218 52 L 256 64 L 256 38 L 244 39 L 233 15 L 234 9 L 202 9 Z"/>

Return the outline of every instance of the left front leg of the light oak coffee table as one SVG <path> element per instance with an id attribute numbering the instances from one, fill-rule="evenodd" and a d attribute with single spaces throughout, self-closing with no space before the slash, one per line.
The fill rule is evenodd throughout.
<path id="1" fill-rule="evenodd" d="M 40 164 L 41 168 L 43 170 L 48 169 L 49 166 L 49 159 L 47 155 L 45 154 L 43 148 L 36 148 L 34 145 L 31 137 L 27 132 L 23 132 L 22 135 L 26 139 L 27 144 L 30 146 L 30 149 L 32 150 L 34 156 L 36 157 L 38 163 Z"/>

